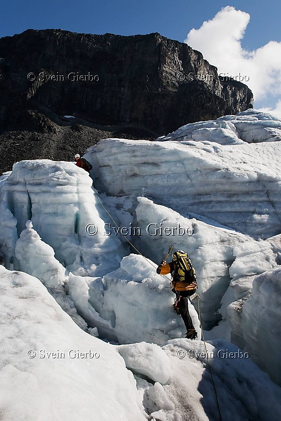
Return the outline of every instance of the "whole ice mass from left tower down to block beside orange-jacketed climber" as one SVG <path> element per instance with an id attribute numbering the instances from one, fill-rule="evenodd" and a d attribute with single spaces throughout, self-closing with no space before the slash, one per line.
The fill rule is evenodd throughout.
<path id="1" fill-rule="evenodd" d="M 105 235 L 109 216 L 84 170 L 68 162 L 22 161 L 0 194 L 7 216 L 3 232 L 6 238 L 13 234 L 10 248 L 3 247 L 6 259 L 11 256 L 14 267 L 53 288 L 67 312 L 71 303 L 65 303 L 64 288 L 79 315 L 103 338 L 162 343 L 185 333 L 172 310 L 171 287 L 155 264 L 136 255 L 122 260 L 128 251 L 116 235 Z M 95 223 L 96 235 L 85 232 L 88 223 Z"/>

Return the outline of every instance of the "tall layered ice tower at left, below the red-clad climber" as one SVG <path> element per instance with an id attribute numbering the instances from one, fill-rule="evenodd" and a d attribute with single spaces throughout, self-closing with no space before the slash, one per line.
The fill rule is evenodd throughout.
<path id="1" fill-rule="evenodd" d="M 19 268 L 13 260 L 14 247 L 27 220 L 54 249 L 56 259 L 76 274 L 104 275 L 117 268 L 127 254 L 116 236 L 104 235 L 106 212 L 92 189 L 92 179 L 71 162 L 17 162 L 2 183 L 0 204 L 0 241 L 6 267 Z M 94 236 L 85 231 L 92 223 L 98 230 Z M 101 253 L 111 258 L 104 259 Z"/>

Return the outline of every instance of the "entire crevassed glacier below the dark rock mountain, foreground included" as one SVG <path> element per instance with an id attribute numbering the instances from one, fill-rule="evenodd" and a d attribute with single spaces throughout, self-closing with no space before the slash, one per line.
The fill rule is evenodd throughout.
<path id="1" fill-rule="evenodd" d="M 217 358 L 220 349 L 238 352 L 237 345 L 280 384 L 280 130 L 279 119 L 247 110 L 183 126 L 158 142 L 106 139 L 85 155 L 94 167 L 95 188 L 71 162 L 22 161 L 0 178 L 0 254 L 7 268 L 36 276 L 0 266 L 1 291 L 7 291 L 0 297 L 6 300 L 0 315 L 12 326 L 4 328 L 10 342 L 0 371 L 1 385 L 7 385 L 0 397 L 7 420 L 15 419 L 20 406 L 31 420 L 44 419 L 39 406 L 46 419 L 63 419 L 65 406 L 58 408 L 55 390 L 68 390 L 80 368 L 87 385 L 90 377 L 105 378 L 101 387 L 110 388 L 120 419 L 138 419 L 135 413 L 140 420 L 218 417 L 203 342 L 180 338 L 185 328 L 172 310 L 169 276 L 155 270 L 171 244 L 186 250 L 196 268 L 203 327 L 219 323 L 205 330 L 205 337 L 214 353 L 210 365 L 224 418 L 280 419 L 280 388 L 265 373 L 250 359 Z M 96 225 L 96 235 L 86 232 L 89 223 Z M 114 230 L 106 235 L 108 223 L 139 226 L 141 235 L 120 236 Z M 146 230 L 150 223 L 168 231 L 180 224 L 194 232 L 154 236 Z M 40 280 L 90 335 L 59 309 Z M 190 303 L 200 337 L 195 308 L 196 302 Z M 221 339 L 230 340 L 230 330 L 235 345 Z M 42 359 L 40 368 L 23 351 L 26 342 L 57 350 L 63 343 L 82 347 L 91 340 L 107 358 L 118 353 L 120 358 L 103 361 L 103 367 L 85 364 L 90 367 L 86 374 L 82 365 L 69 368 L 64 361 L 56 366 L 50 359 L 48 364 Z M 115 366 L 124 387 L 115 378 Z M 62 384 L 59 375 L 66 376 Z M 30 408 L 23 400 L 10 405 L 24 384 Z M 77 396 L 98 408 L 99 419 L 113 419 L 108 407 L 101 409 L 103 401 L 92 396 L 92 385 L 85 393 L 81 381 L 77 388 Z M 77 412 L 75 402 L 66 409 L 67 417 L 87 418 L 89 407 Z"/>

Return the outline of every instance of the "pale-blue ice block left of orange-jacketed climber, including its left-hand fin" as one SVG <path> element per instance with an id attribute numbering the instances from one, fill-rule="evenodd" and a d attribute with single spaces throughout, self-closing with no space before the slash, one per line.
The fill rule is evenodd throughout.
<path id="1" fill-rule="evenodd" d="M 174 294 L 169 279 L 158 275 L 156 267 L 152 261 L 131 254 L 102 279 L 71 275 L 67 288 L 79 313 L 98 328 L 100 337 L 122 344 L 162 344 L 184 336 L 186 328 L 172 308 Z M 198 315 L 191 303 L 189 311 L 200 338 Z"/>

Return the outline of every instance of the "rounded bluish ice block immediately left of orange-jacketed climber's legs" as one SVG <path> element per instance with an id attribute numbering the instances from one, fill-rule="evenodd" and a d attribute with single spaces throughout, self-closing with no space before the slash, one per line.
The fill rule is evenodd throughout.
<path id="1" fill-rule="evenodd" d="M 181 317 L 172 308 L 169 279 L 158 275 L 156 267 L 148 259 L 130 254 L 122 259 L 119 269 L 102 279 L 106 289 L 100 316 L 110 320 L 111 331 L 119 343 L 145 340 L 162 344 L 186 331 Z M 200 338 L 198 315 L 191 303 L 189 312 Z"/>

